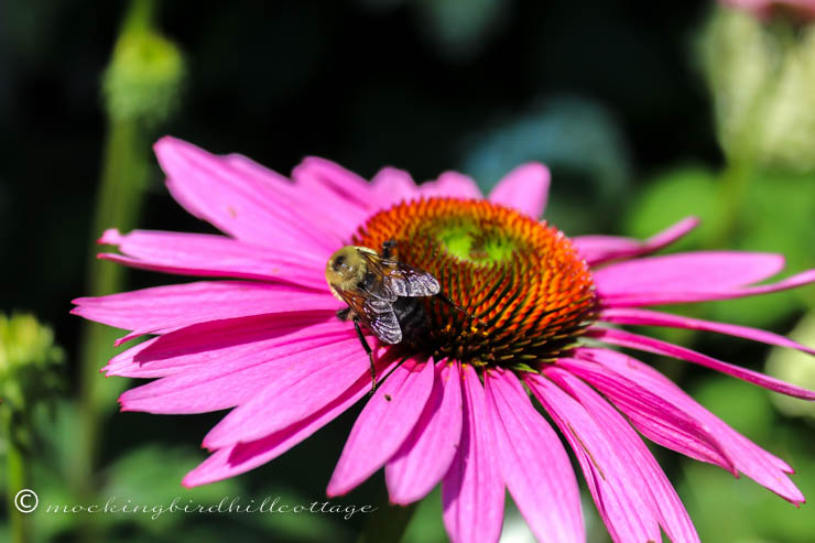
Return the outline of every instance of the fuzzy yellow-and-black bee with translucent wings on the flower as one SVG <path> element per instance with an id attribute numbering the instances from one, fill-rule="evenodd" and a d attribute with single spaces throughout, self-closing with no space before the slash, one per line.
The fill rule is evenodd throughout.
<path id="1" fill-rule="evenodd" d="M 352 321 L 371 362 L 372 389 L 377 388 L 371 347 L 360 329 L 370 329 L 380 341 L 395 345 L 414 343 L 428 326 L 420 298 L 441 296 L 442 287 L 433 274 L 393 258 L 395 241 L 382 243 L 382 252 L 367 247 L 346 246 L 332 254 L 325 278 L 332 294 L 348 304 L 337 317 Z"/>

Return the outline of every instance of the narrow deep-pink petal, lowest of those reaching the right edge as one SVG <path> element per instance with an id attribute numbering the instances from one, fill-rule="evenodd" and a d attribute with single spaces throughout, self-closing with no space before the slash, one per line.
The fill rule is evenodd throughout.
<path id="1" fill-rule="evenodd" d="M 707 355 L 696 352 L 695 350 L 691 350 L 685 347 L 680 347 L 678 345 L 672 345 L 660 339 L 611 328 L 589 328 L 588 335 L 601 341 L 619 345 L 621 347 L 630 347 L 637 350 L 665 355 L 681 360 L 687 360 L 688 362 L 698 363 L 699 366 L 727 373 L 728 376 L 742 379 L 765 389 L 774 390 L 775 392 L 781 392 L 782 394 L 803 398 L 805 400 L 815 400 L 815 391 L 786 383 L 779 379 L 759 373 L 758 371 L 722 362 L 721 360 L 708 357 Z"/>

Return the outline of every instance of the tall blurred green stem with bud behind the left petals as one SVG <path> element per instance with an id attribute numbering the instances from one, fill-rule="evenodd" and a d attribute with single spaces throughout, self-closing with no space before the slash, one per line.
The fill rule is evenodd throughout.
<path id="1" fill-rule="evenodd" d="M 161 99 L 173 95 L 183 65 L 174 46 L 155 30 L 154 12 L 154 0 L 131 0 L 106 73 L 108 131 L 94 216 L 94 240 L 106 228 L 130 230 L 135 227 L 150 177 L 150 142 L 156 128 L 167 118 L 172 109 L 169 105 L 175 104 Z M 95 243 L 93 246 L 91 253 L 96 253 Z M 88 294 L 111 294 L 122 290 L 123 283 L 122 267 L 97 260 L 91 254 Z M 116 405 L 115 397 L 124 387 L 123 380 L 116 387 L 99 376 L 99 368 L 115 352 L 112 345 L 118 335 L 120 332 L 112 328 L 87 324 L 82 338 L 76 450 L 70 478 L 77 499 L 85 502 L 95 499 L 102 417 Z M 93 520 L 93 515 L 84 519 L 82 541 L 99 539 Z"/>

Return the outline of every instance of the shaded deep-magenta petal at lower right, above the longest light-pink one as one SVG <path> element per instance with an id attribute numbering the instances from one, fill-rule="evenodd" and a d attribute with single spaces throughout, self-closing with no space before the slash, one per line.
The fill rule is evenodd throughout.
<path id="1" fill-rule="evenodd" d="M 735 460 L 711 430 L 682 409 L 596 362 L 561 358 L 557 366 L 602 392 L 654 443 L 738 474 Z"/>

